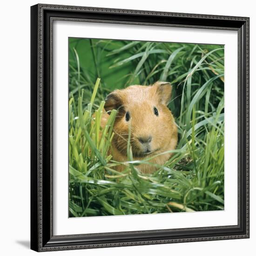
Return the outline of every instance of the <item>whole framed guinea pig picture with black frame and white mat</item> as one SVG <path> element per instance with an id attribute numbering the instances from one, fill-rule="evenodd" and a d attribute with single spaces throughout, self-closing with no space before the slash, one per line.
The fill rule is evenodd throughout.
<path id="1" fill-rule="evenodd" d="M 249 237 L 249 18 L 31 7 L 31 249 Z"/>

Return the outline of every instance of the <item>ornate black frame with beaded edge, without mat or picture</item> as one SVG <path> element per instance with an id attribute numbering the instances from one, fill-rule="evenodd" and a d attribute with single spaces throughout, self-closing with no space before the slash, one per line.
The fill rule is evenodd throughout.
<path id="1" fill-rule="evenodd" d="M 238 225 L 53 236 L 54 20 L 238 32 Z M 249 238 L 249 18 L 47 4 L 32 6 L 31 249 L 52 251 L 237 238 Z"/>

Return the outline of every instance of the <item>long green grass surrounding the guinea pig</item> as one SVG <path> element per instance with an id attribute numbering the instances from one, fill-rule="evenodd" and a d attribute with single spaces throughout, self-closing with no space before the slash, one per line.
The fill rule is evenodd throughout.
<path id="1" fill-rule="evenodd" d="M 69 216 L 224 209 L 223 47 L 69 40 Z M 136 168 L 147 159 L 133 161 L 129 144 L 128 162 L 107 154 L 116 111 L 104 129 L 100 121 L 110 91 L 158 80 L 173 84 L 169 108 L 179 142 L 147 175 Z M 119 164 L 126 166 L 121 173 Z"/>

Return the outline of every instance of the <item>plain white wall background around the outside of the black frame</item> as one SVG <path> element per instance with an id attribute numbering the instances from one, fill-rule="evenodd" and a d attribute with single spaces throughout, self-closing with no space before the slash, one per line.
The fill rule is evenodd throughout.
<path id="1" fill-rule="evenodd" d="M 47 0 L 41 3 L 205 13 L 250 17 L 251 232 L 250 239 L 51 252 L 51 255 L 253 255 L 256 212 L 253 148 L 256 143 L 256 14 L 253 0 L 115 1 Z M 1 2 L 0 15 L 0 253 L 35 255 L 30 239 L 30 6 L 36 0 Z"/>

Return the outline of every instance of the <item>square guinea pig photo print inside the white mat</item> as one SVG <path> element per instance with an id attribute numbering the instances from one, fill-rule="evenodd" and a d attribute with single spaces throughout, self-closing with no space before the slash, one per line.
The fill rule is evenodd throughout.
<path id="1" fill-rule="evenodd" d="M 68 38 L 69 217 L 224 209 L 224 46 Z"/>

